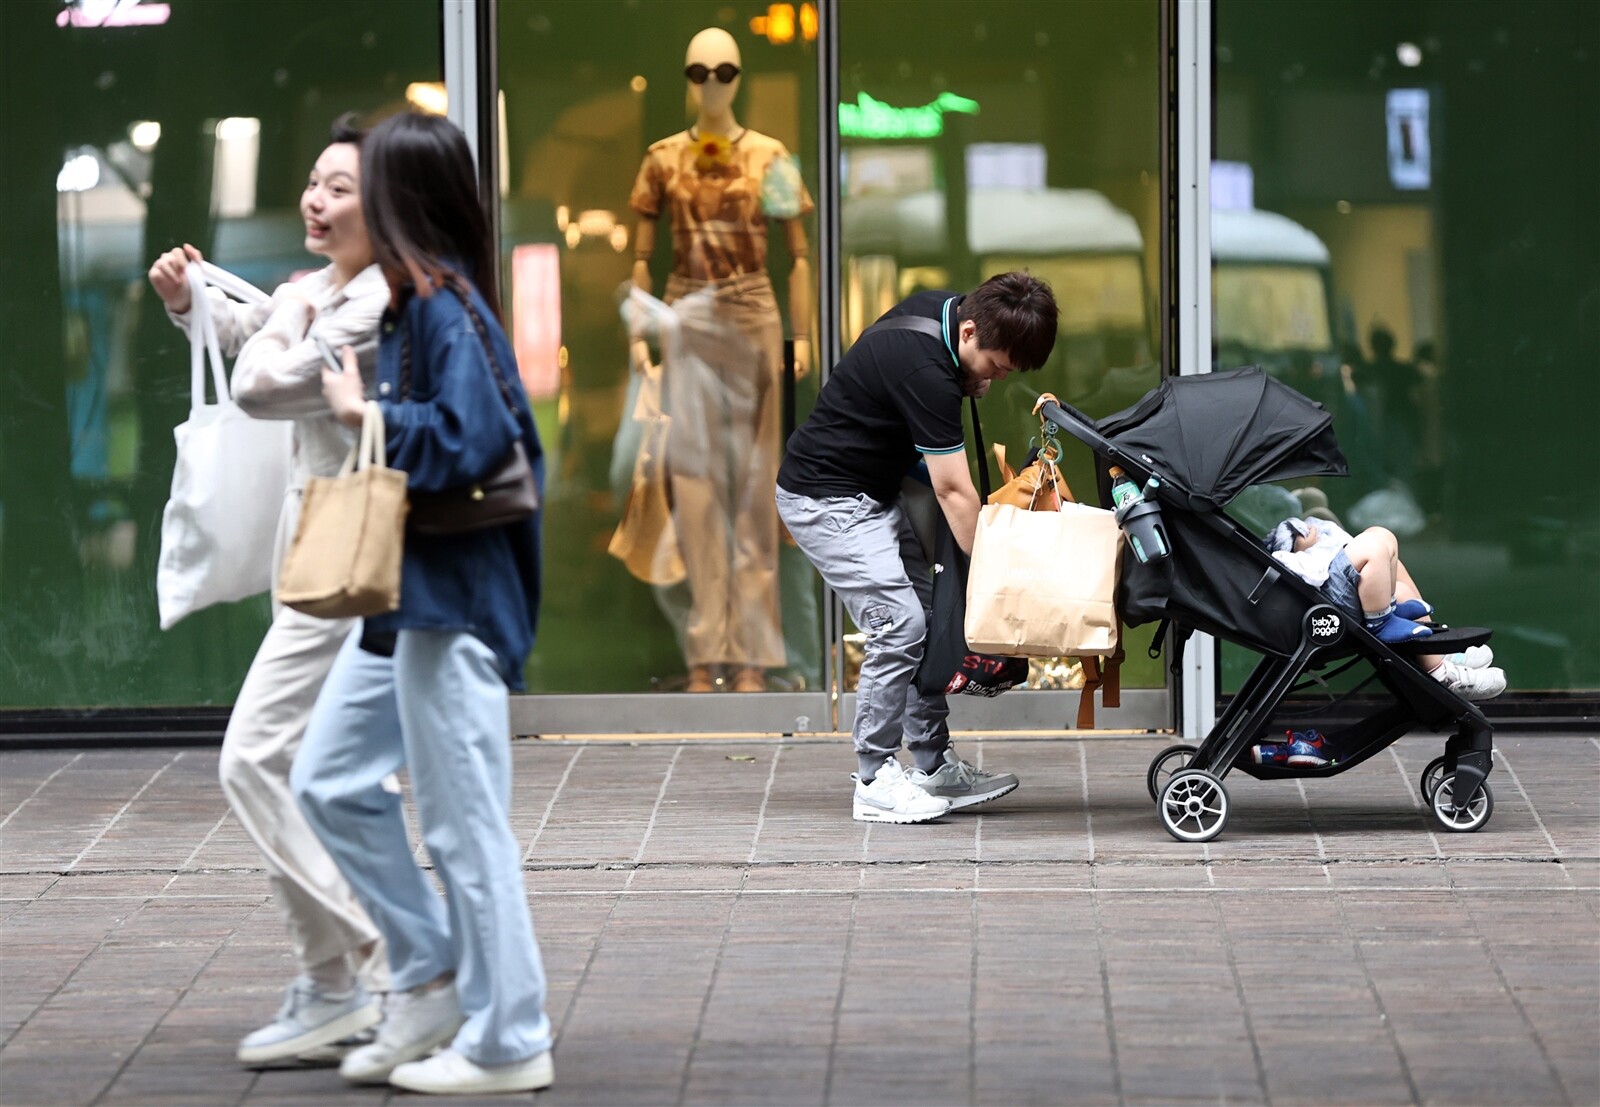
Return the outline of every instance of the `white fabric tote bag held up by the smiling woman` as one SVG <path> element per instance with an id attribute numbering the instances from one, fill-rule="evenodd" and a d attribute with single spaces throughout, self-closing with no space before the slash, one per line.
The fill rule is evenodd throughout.
<path id="1" fill-rule="evenodd" d="M 189 419 L 173 435 L 178 464 L 162 512 L 155 601 L 162 630 L 213 603 L 272 587 L 272 549 L 290 483 L 294 424 L 251 419 L 234 403 L 206 283 L 251 302 L 267 294 L 211 264 L 189 266 Z M 205 402 L 210 355 L 216 403 Z"/>

